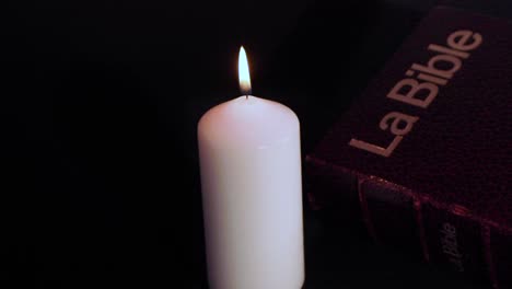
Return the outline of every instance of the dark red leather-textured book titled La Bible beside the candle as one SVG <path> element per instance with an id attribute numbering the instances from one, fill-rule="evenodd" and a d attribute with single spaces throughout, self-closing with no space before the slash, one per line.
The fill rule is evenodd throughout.
<path id="1" fill-rule="evenodd" d="M 306 157 L 316 209 L 512 288 L 512 26 L 432 10 Z"/>

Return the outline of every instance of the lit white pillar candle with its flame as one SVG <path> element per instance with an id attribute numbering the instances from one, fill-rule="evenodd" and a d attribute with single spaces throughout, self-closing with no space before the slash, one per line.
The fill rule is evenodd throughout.
<path id="1" fill-rule="evenodd" d="M 245 51 L 240 76 L 251 91 Z M 300 289 L 304 282 L 300 126 L 277 102 L 240 96 L 198 124 L 211 289 Z"/>

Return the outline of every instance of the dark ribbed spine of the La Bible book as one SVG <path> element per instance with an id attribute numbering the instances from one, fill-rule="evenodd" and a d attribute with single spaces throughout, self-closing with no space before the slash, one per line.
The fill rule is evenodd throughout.
<path id="1" fill-rule="evenodd" d="M 474 216 L 463 206 L 440 204 L 311 155 L 306 157 L 305 172 L 313 209 L 329 211 L 342 222 L 357 219 L 376 243 L 438 267 L 467 274 L 497 289 L 512 286 L 510 230 Z"/>

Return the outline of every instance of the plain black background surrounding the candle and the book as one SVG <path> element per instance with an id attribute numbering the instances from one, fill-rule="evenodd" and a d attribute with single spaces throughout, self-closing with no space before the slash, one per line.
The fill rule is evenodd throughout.
<path id="1" fill-rule="evenodd" d="M 435 4 L 2 3 L 2 288 L 206 288 L 196 125 L 238 95 L 240 46 L 306 153 Z M 304 209 L 305 288 L 487 288 Z"/>

